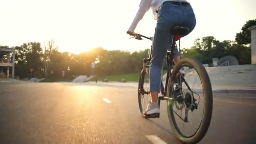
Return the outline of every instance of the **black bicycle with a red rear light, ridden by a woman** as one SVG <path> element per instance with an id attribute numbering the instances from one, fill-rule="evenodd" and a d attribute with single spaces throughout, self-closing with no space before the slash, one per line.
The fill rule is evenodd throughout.
<path id="1" fill-rule="evenodd" d="M 167 75 L 166 82 L 163 85 L 163 81 L 161 80 L 161 95 L 158 96 L 158 104 L 160 108 L 160 101 L 167 101 L 167 112 L 168 119 L 173 129 L 173 132 L 177 139 L 179 139 L 183 143 L 194 144 L 203 139 L 205 134 L 208 131 L 209 125 L 211 123 L 212 117 L 212 109 L 213 109 L 213 93 L 211 88 L 211 81 L 209 79 L 208 73 L 203 67 L 203 64 L 194 58 L 181 58 L 180 61 L 176 64 L 173 60 L 173 50 L 176 46 L 176 41 L 179 40 L 179 55 L 181 56 L 180 51 L 180 39 L 181 35 L 184 35 L 188 32 L 187 27 L 176 26 L 171 29 L 171 33 L 173 34 L 173 42 L 171 45 L 171 51 L 167 51 L 166 53 L 166 61 L 167 61 Z M 127 32 L 129 34 L 129 32 Z M 142 40 L 143 38 L 153 40 L 153 37 L 146 37 L 144 35 L 136 34 L 134 37 L 137 40 Z M 148 58 L 143 59 L 143 69 L 141 70 L 141 74 L 139 77 L 139 85 L 138 85 L 138 101 L 139 101 L 139 109 L 141 114 L 145 108 L 147 107 L 149 98 L 149 65 L 147 62 L 151 61 L 152 46 L 149 51 Z M 180 69 L 184 70 L 184 75 L 181 74 Z M 192 80 L 187 80 L 191 78 Z M 199 78 L 196 80 L 196 78 Z M 200 84 L 202 87 L 200 87 Z M 184 86 L 184 88 L 183 88 Z M 201 88 L 201 89 L 200 89 Z M 199 93 L 202 93 L 204 97 L 201 97 Z M 145 102 L 145 99 L 146 102 Z M 202 101 L 200 103 L 200 101 Z M 202 103 L 204 104 L 202 107 Z M 176 109 L 180 111 L 180 115 L 176 112 Z M 202 117 L 199 123 L 197 123 L 198 127 L 195 129 L 195 132 L 191 132 L 192 129 L 189 128 L 189 134 L 181 131 L 181 123 L 188 124 L 191 122 L 191 117 L 197 117 L 199 110 L 203 109 Z M 182 114 L 184 110 L 184 116 Z M 191 117 L 188 117 L 188 112 L 191 112 Z M 157 116 L 158 118 L 160 115 Z M 144 116 L 144 118 L 150 118 Z M 187 125 L 186 125 L 187 126 Z"/>

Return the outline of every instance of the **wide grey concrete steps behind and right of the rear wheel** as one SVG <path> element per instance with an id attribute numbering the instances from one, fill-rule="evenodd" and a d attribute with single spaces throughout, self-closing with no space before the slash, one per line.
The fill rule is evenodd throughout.
<path id="1" fill-rule="evenodd" d="M 256 90 L 256 64 L 205 68 L 214 90 Z M 195 70 L 186 69 L 185 79 L 189 85 L 200 89 Z M 162 77 L 165 83 L 166 74 Z"/>

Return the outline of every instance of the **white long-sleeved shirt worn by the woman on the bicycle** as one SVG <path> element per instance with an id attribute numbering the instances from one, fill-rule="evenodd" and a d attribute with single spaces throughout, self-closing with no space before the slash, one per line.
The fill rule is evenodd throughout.
<path id="1" fill-rule="evenodd" d="M 131 24 L 131 27 L 129 28 L 130 31 L 134 31 L 139 21 L 143 18 L 144 14 L 149 11 L 150 7 L 152 9 L 153 15 L 155 20 L 157 20 L 157 13 L 156 11 L 160 7 L 160 5 L 164 1 L 177 1 L 177 0 L 141 0 L 141 3 L 139 4 L 139 10 L 133 19 L 133 22 Z M 179 0 L 179 1 L 187 1 L 187 0 Z"/>

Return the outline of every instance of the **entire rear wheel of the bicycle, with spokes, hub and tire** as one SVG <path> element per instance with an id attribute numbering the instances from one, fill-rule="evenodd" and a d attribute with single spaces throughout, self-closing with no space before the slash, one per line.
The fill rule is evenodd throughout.
<path id="1" fill-rule="evenodd" d="M 184 70 L 184 75 L 180 70 Z M 200 61 L 182 58 L 168 80 L 168 118 L 177 139 L 195 144 L 211 123 L 213 96 L 211 81 Z"/>

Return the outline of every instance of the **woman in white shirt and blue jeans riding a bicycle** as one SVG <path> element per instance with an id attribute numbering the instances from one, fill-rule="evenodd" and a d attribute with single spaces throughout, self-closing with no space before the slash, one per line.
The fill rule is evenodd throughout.
<path id="1" fill-rule="evenodd" d="M 173 40 L 171 28 L 175 26 L 188 27 L 189 34 L 195 28 L 196 19 L 192 6 L 186 0 L 141 0 L 139 10 L 133 19 L 129 34 L 136 36 L 134 32 L 137 24 L 144 14 L 150 9 L 157 20 L 152 47 L 152 60 L 150 61 L 149 83 L 151 102 L 147 105 L 144 115 L 159 115 L 158 93 L 160 92 L 161 70 L 163 59 Z M 182 35 L 181 37 L 184 37 Z M 174 50 L 174 61 L 179 61 L 178 48 Z"/>

